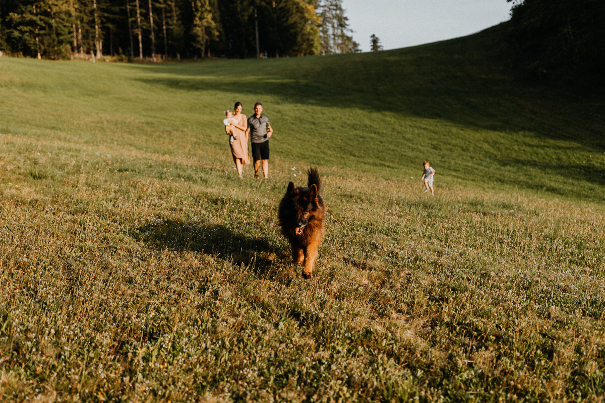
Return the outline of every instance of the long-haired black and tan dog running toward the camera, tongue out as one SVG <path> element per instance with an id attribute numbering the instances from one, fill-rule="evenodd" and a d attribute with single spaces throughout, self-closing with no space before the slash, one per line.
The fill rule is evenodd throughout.
<path id="1" fill-rule="evenodd" d="M 324 238 L 325 206 L 319 196 L 321 178 L 317 169 L 307 171 L 307 187 L 294 187 L 288 184 L 286 195 L 280 202 L 278 217 L 281 233 L 292 245 L 292 260 L 302 263 L 302 276 L 310 279 L 317 259 L 319 243 Z"/>

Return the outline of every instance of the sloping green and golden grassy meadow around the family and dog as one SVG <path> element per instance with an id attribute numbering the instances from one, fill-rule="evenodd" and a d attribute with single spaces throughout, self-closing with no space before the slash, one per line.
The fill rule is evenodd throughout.
<path id="1" fill-rule="evenodd" d="M 0 58 L 0 401 L 603 401 L 605 98 L 499 48 Z M 232 167 L 236 101 L 269 181 Z M 310 165 L 307 281 L 276 209 Z"/>

